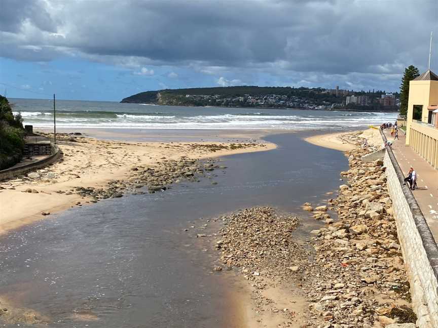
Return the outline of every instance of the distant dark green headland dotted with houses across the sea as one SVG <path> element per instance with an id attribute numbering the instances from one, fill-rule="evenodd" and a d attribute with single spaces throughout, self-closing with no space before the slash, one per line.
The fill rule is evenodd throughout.
<path id="1" fill-rule="evenodd" d="M 397 112 L 398 93 L 292 87 L 216 87 L 140 92 L 122 103 Z"/>

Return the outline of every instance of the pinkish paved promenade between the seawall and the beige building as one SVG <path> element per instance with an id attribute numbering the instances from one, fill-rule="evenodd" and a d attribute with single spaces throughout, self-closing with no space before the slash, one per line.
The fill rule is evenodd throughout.
<path id="1" fill-rule="evenodd" d="M 400 133 L 400 140 L 394 140 L 389 130 L 385 130 L 385 135 L 388 140 L 393 141 L 392 150 L 405 177 L 408 176 L 410 167 L 417 171 L 418 189 L 413 194 L 435 241 L 438 241 L 438 170 L 433 169 L 411 147 L 405 145 L 404 134 Z"/>

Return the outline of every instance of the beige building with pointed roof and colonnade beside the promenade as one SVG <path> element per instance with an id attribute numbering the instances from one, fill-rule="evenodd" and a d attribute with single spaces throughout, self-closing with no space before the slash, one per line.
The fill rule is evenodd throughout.
<path id="1" fill-rule="evenodd" d="M 438 75 L 430 70 L 409 83 L 406 144 L 438 169 Z"/>

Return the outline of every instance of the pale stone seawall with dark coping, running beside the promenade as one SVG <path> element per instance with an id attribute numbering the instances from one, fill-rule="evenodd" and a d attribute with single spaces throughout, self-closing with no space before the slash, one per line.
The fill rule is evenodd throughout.
<path id="1" fill-rule="evenodd" d="M 386 141 L 386 137 L 382 134 Z M 384 155 L 398 240 L 411 286 L 412 306 L 420 328 L 438 327 L 438 247 L 390 149 Z"/>

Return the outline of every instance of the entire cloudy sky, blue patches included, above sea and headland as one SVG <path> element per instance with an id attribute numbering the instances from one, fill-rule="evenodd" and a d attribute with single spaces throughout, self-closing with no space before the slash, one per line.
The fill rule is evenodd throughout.
<path id="1" fill-rule="evenodd" d="M 0 94 L 224 85 L 398 90 L 438 70 L 438 0 L 0 0 Z"/>

